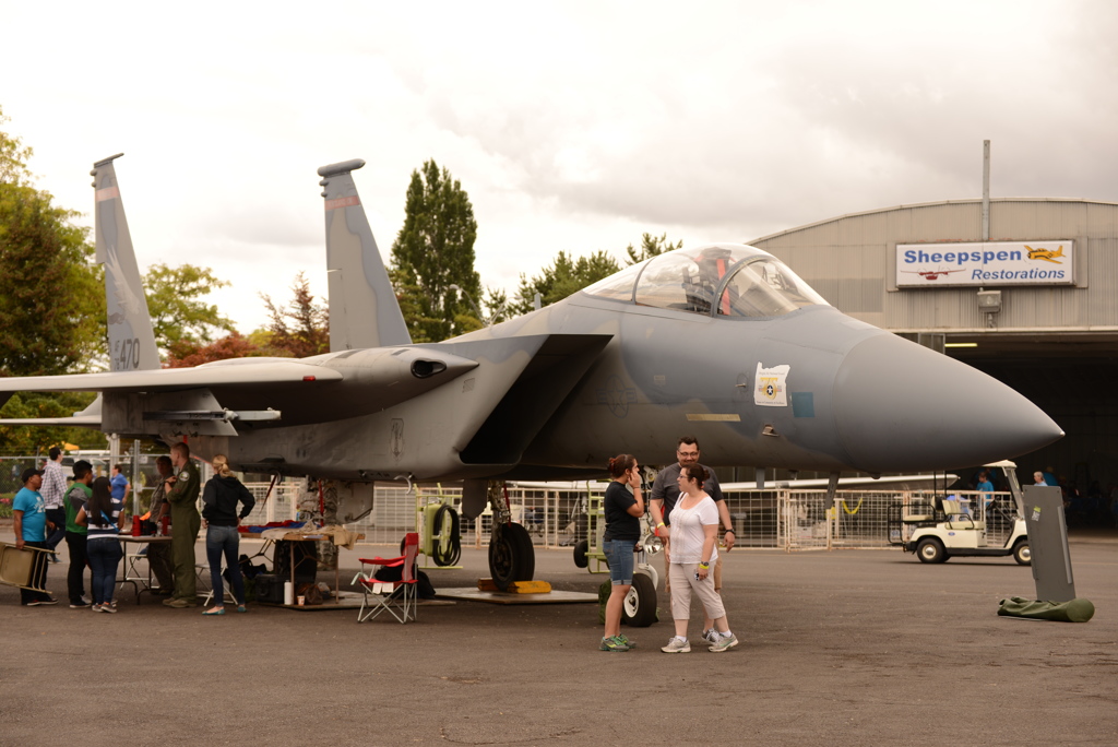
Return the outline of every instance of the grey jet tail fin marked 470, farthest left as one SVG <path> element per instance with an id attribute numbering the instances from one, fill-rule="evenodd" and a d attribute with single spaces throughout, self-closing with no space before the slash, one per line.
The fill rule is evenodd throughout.
<path id="1" fill-rule="evenodd" d="M 105 265 L 110 369 L 154 370 L 160 368 L 159 348 L 113 168 L 122 155 L 97 161 L 89 172 L 96 190 L 97 262 Z"/>

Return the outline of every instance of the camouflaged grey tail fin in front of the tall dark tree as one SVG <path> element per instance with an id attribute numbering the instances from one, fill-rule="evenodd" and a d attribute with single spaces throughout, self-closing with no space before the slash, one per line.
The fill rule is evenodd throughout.
<path id="1" fill-rule="evenodd" d="M 350 173 L 363 166 L 356 159 L 319 169 L 326 209 L 331 352 L 411 343 Z"/>

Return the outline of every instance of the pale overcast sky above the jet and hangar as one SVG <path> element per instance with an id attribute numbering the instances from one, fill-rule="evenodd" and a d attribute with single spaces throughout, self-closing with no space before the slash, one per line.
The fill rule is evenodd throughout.
<path id="1" fill-rule="evenodd" d="M 920 8 L 923 8 L 922 10 Z M 351 158 L 386 263 L 434 158 L 483 285 L 641 234 L 747 242 L 982 195 L 1118 201 L 1118 3 L 0 0 L 2 125 L 92 226 L 116 171 L 142 268 L 211 267 L 243 332 L 325 291 L 318 167 Z"/>

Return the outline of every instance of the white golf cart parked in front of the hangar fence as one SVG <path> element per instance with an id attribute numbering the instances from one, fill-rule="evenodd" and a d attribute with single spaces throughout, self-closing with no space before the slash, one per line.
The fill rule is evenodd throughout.
<path id="1" fill-rule="evenodd" d="M 1032 561 L 1025 531 L 1024 503 L 1016 464 L 1010 461 L 985 465 L 1005 474 L 1013 495 L 1013 511 L 996 501 L 913 500 L 894 507 L 889 541 L 906 552 L 916 552 L 921 562 L 944 562 L 953 557 L 1013 556 L 1022 566 Z"/>

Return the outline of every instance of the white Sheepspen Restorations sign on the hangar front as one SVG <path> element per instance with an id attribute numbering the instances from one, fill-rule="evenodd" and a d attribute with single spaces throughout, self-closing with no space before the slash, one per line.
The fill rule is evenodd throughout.
<path id="1" fill-rule="evenodd" d="M 1074 242 L 898 244 L 897 287 L 1074 285 Z"/>

